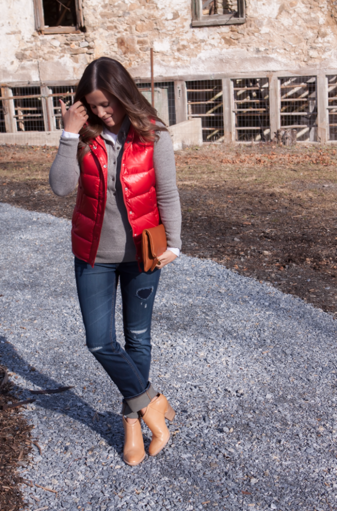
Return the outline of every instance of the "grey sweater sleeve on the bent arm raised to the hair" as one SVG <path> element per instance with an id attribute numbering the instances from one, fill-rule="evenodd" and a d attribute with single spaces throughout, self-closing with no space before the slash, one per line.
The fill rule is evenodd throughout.
<path id="1" fill-rule="evenodd" d="M 78 138 L 61 136 L 60 146 L 49 172 L 49 183 L 56 195 L 65 197 L 75 189 L 80 177 L 76 158 Z"/>

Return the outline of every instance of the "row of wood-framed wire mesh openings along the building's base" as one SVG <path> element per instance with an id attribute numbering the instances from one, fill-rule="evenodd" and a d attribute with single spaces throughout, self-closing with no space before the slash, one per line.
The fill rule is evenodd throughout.
<path id="1" fill-rule="evenodd" d="M 136 85 L 151 102 L 150 83 Z M 58 99 L 68 108 L 75 95 L 70 81 L 1 84 L 0 133 L 62 129 Z M 155 83 L 155 108 L 167 126 L 199 117 L 204 142 L 267 142 L 282 127 L 296 129 L 298 141 L 337 141 L 337 74 L 171 78 Z"/>

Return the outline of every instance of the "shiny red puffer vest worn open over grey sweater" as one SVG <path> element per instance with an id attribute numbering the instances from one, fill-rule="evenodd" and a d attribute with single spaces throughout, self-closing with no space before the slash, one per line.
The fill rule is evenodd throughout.
<path id="1" fill-rule="evenodd" d="M 74 255 L 93 266 L 107 200 L 108 155 L 100 136 L 89 145 L 91 151 L 84 156 L 81 165 L 71 243 Z M 142 231 L 159 225 L 160 217 L 155 189 L 153 144 L 142 143 L 132 126 L 124 145 L 120 177 L 136 245 L 136 257 L 140 262 Z"/>

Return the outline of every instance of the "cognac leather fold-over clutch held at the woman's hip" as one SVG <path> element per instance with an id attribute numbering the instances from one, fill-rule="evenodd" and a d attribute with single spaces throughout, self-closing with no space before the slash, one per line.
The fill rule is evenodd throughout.
<path id="1" fill-rule="evenodd" d="M 141 239 L 141 251 L 144 270 L 153 271 L 158 263 L 158 256 L 165 252 L 167 240 L 163 224 L 144 229 Z"/>

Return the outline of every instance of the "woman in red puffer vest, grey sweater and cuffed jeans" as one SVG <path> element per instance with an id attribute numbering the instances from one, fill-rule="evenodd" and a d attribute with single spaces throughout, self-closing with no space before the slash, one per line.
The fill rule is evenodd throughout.
<path id="1" fill-rule="evenodd" d="M 123 394 L 124 461 L 137 465 L 145 458 L 140 419 L 152 431 L 149 454 L 155 456 L 170 438 L 165 417 L 175 415 L 149 382 L 160 269 L 181 248 L 171 137 L 126 69 L 110 58 L 91 62 L 74 104 L 60 105 L 64 130 L 50 184 L 65 196 L 79 183 L 71 241 L 86 342 Z M 159 223 L 167 249 L 154 271 L 145 272 L 142 231 Z M 115 333 L 118 279 L 125 349 Z"/>

